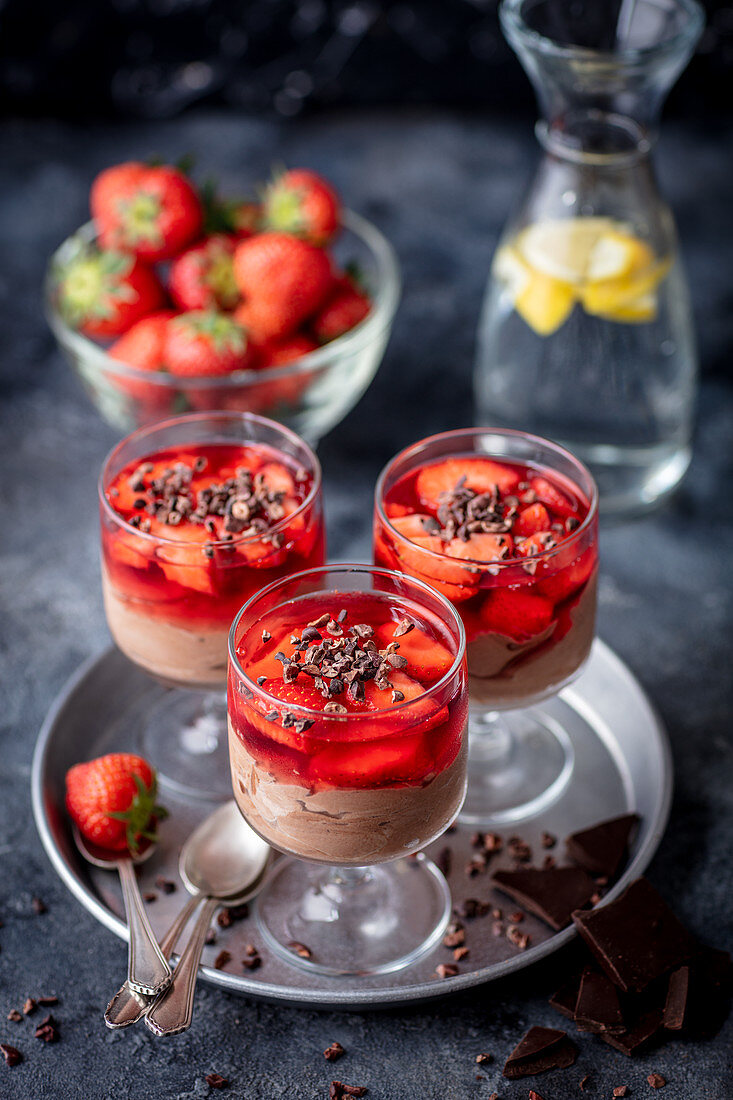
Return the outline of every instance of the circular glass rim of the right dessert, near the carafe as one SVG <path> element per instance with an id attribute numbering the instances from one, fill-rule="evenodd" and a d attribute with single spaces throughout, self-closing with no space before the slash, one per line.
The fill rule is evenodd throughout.
<path id="1" fill-rule="evenodd" d="M 507 558 L 503 561 L 489 562 L 489 561 L 481 561 L 478 558 L 451 558 L 450 554 L 439 553 L 437 550 L 429 550 L 427 549 L 427 547 L 422 547 L 418 546 L 418 543 L 413 542 L 412 539 L 408 539 L 407 536 L 398 531 L 396 527 L 393 527 L 390 517 L 386 515 L 386 512 L 384 510 L 384 483 L 392 468 L 395 466 L 401 459 L 407 458 L 411 454 L 411 452 L 414 451 L 415 453 L 417 453 L 422 449 L 426 448 L 428 443 L 434 443 L 437 440 L 468 439 L 473 436 L 482 436 L 482 435 L 504 436 L 508 439 L 529 440 L 529 442 L 532 443 L 537 443 L 541 447 L 549 448 L 551 451 L 555 451 L 556 454 L 560 454 L 562 455 L 562 458 L 569 460 L 569 462 L 577 470 L 580 470 L 588 477 L 589 484 L 591 486 L 590 499 L 588 503 L 588 513 L 586 514 L 582 521 L 576 528 L 575 531 L 570 532 L 566 538 L 564 538 L 556 546 L 551 547 L 548 550 L 540 550 L 537 553 L 527 554 L 526 558 L 513 557 L 513 558 Z M 499 461 L 501 461 L 501 459 L 503 458 L 507 458 L 507 455 L 496 455 L 492 454 L 489 451 L 485 452 L 478 451 L 475 453 L 477 454 L 483 453 L 485 458 Z M 450 457 L 451 457 L 450 454 L 445 455 L 445 458 L 450 458 Z M 405 447 L 402 451 L 400 451 L 392 459 L 390 459 L 386 465 L 382 469 L 379 477 L 376 479 L 376 484 L 374 486 L 374 506 L 376 508 L 376 513 L 380 517 L 380 520 L 387 527 L 387 529 L 394 536 L 394 538 L 400 539 L 403 542 L 407 542 L 411 546 L 414 546 L 416 550 L 419 553 L 425 554 L 428 558 L 428 560 L 430 558 L 434 558 L 436 561 L 445 561 L 446 559 L 448 559 L 448 561 L 455 562 L 457 566 L 460 566 L 462 563 L 466 563 L 468 565 L 481 565 L 484 571 L 486 571 L 491 565 L 492 571 L 499 570 L 500 573 L 503 570 L 510 569 L 514 565 L 522 564 L 527 561 L 534 561 L 534 562 L 546 561 L 548 558 L 554 557 L 555 554 L 564 550 L 566 547 L 572 546 L 594 521 L 595 516 L 598 515 L 598 502 L 599 502 L 599 492 L 598 492 L 598 485 L 595 484 L 595 480 L 591 474 L 590 470 L 588 469 L 588 466 L 586 466 L 580 461 L 580 459 L 577 459 L 575 454 L 566 450 L 565 447 L 560 447 L 559 443 L 554 443 L 553 440 L 550 439 L 544 439 L 541 436 L 534 436 L 529 431 L 519 431 L 516 428 L 489 428 L 489 427 L 453 428 L 452 430 L 449 431 L 439 431 L 436 432 L 434 436 L 427 436 L 425 439 L 419 439 L 416 443 L 411 443 L 409 447 Z M 496 573 L 495 575 L 500 575 L 500 573 Z"/>

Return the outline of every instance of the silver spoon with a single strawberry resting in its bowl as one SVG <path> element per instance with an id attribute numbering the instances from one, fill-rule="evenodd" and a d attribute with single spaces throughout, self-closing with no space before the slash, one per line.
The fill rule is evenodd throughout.
<path id="1" fill-rule="evenodd" d="M 135 864 L 142 864 L 152 856 L 155 846 L 149 844 L 140 855 L 109 851 L 99 845 L 87 840 L 78 829 L 74 829 L 76 846 L 90 864 L 109 871 L 117 868 L 122 884 L 124 913 L 130 930 L 128 949 L 128 982 L 130 988 L 139 993 L 155 997 L 169 986 L 172 971 L 163 952 L 157 945 L 150 926 L 147 914 L 140 895 L 140 887 L 135 877 Z"/>

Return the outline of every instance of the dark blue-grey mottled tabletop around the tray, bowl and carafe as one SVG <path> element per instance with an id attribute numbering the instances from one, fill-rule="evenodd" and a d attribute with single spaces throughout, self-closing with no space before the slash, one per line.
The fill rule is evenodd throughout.
<path id="1" fill-rule="evenodd" d="M 56 879 L 29 798 L 33 743 L 54 695 L 108 644 L 97 563 L 95 481 L 114 441 L 55 350 L 39 302 L 46 255 L 85 217 L 96 169 L 155 148 L 200 163 L 234 188 L 273 160 L 329 173 L 349 204 L 400 252 L 405 298 L 384 364 L 358 409 L 324 440 L 330 552 L 365 557 L 372 486 L 405 443 L 471 422 L 473 329 L 496 235 L 533 157 L 529 133 L 450 116 L 336 116 L 295 129 L 214 114 L 118 129 L 6 123 L 0 131 L 0 329 L 3 476 L 0 544 L 0 1062 L 3 1100 L 204 1098 L 216 1070 L 247 1100 L 320 1100 L 333 1078 L 374 1100 L 545 1100 L 631 1096 L 730 1100 L 733 1021 L 713 1041 L 670 1044 L 633 1062 L 590 1036 L 571 1069 L 504 1082 L 501 1065 L 530 1024 L 555 1026 L 547 997 L 567 955 L 500 986 L 424 1011 L 338 1015 L 270 1007 L 201 987 L 190 1032 L 156 1041 L 112 1034 L 101 1012 L 119 983 L 123 946 Z M 707 378 L 690 475 L 665 510 L 603 532 L 600 634 L 631 664 L 666 721 L 677 773 L 672 816 L 649 876 L 703 939 L 733 948 L 733 745 L 730 580 L 733 343 L 729 215 L 733 153 L 723 133 L 665 133 L 659 169 L 679 218 Z M 31 899 L 48 906 L 33 913 Z M 62 1041 L 6 1021 L 28 994 L 56 990 Z M 335 1065 L 322 1050 L 348 1050 Z M 495 1063 L 474 1064 L 493 1053 Z M 477 1080 L 477 1070 L 483 1080 Z M 667 1087 L 653 1093 L 646 1077 Z"/>

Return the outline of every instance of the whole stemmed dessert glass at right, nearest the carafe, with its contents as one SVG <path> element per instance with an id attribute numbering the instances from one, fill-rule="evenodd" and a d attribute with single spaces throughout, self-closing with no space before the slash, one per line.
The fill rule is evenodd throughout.
<path id="1" fill-rule="evenodd" d="M 593 479 L 536 436 L 444 432 L 402 451 L 380 475 L 375 563 L 433 584 L 466 628 L 468 824 L 528 817 L 570 780 L 571 741 L 536 704 L 569 684 L 589 656 L 597 543 Z"/>

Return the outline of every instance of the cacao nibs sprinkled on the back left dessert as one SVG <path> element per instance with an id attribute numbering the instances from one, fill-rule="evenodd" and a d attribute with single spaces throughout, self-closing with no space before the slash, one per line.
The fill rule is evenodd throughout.
<path id="1" fill-rule="evenodd" d="M 222 519 L 221 539 L 225 535 L 259 537 L 280 548 L 282 536 L 272 531 L 272 527 L 285 516 L 285 492 L 270 488 L 262 473 L 253 474 L 245 466 L 239 466 L 233 477 L 212 482 L 195 492 L 194 474 L 200 473 L 206 465 L 207 460 L 200 457 L 193 466 L 176 462 L 160 477 L 150 477 L 153 465 L 143 462 L 129 480 L 133 493 L 144 494 L 134 501 L 134 507 L 144 508 L 149 516 L 171 527 L 186 519 L 203 526 L 212 536 L 220 529 L 216 519 Z M 140 526 L 140 517 L 132 516 L 128 522 Z"/>

